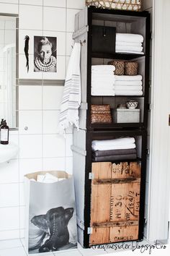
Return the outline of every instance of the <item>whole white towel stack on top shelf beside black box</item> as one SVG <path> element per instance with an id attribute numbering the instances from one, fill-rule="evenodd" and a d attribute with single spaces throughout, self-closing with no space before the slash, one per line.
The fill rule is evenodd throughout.
<path id="1" fill-rule="evenodd" d="M 117 53 L 143 53 L 143 35 L 116 33 L 116 52 Z"/>

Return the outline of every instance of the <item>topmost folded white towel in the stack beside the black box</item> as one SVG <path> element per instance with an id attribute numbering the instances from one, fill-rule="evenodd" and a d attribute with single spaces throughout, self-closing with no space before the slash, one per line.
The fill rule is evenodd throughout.
<path id="1" fill-rule="evenodd" d="M 143 35 L 130 33 L 116 33 L 116 42 L 143 43 Z"/>

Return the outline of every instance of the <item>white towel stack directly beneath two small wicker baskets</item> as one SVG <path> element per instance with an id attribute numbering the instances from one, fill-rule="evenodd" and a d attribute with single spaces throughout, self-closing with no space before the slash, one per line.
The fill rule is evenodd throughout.
<path id="1" fill-rule="evenodd" d="M 142 76 L 115 75 L 115 95 L 143 95 Z"/>

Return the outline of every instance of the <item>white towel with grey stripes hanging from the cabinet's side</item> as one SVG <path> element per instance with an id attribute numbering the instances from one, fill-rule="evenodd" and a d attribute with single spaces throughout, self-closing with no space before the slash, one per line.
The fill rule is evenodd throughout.
<path id="1" fill-rule="evenodd" d="M 80 52 L 81 44 L 75 43 L 68 64 L 63 100 L 61 101 L 59 130 L 63 134 L 73 124 L 79 129 L 79 106 L 81 104 Z"/>

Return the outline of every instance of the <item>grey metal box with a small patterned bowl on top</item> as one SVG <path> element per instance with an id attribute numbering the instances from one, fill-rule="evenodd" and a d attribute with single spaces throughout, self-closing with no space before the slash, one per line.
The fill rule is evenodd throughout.
<path id="1" fill-rule="evenodd" d="M 140 109 L 139 108 L 113 109 L 112 115 L 113 115 L 114 123 L 139 123 L 140 122 Z"/>

